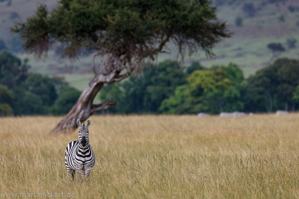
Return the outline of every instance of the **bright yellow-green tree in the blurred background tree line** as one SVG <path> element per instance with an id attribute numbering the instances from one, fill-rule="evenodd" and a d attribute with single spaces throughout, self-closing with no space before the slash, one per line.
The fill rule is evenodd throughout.
<path id="1" fill-rule="evenodd" d="M 161 103 L 159 110 L 167 114 L 240 111 L 241 93 L 234 85 L 242 80 L 242 70 L 232 63 L 196 70 L 187 78 L 187 84 L 177 87 L 174 95 Z"/>

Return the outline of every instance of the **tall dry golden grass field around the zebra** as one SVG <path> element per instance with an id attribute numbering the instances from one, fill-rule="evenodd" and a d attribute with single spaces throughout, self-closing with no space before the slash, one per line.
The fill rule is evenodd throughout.
<path id="1" fill-rule="evenodd" d="M 67 182 L 64 165 L 77 131 L 50 135 L 60 117 L 0 118 L 0 191 L 71 192 L 76 198 L 299 198 L 298 116 L 92 116 L 96 164 L 82 186 Z"/>

